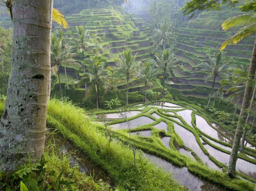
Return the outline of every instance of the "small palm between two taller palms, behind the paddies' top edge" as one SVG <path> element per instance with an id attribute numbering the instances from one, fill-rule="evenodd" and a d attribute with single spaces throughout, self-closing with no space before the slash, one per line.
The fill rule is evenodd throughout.
<path id="1" fill-rule="evenodd" d="M 153 86 L 156 75 L 157 73 L 152 66 L 152 62 L 143 63 L 142 68 L 138 71 L 138 79 L 144 82 L 145 86 L 145 102 L 147 102 L 147 87 Z"/>

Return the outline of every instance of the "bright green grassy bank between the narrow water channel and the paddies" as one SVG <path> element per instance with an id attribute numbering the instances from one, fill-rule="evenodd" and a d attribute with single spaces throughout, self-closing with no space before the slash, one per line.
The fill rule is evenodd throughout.
<path id="1" fill-rule="evenodd" d="M 142 155 L 136 155 L 121 143 L 108 144 L 108 139 L 97 130 L 84 111 L 71 103 L 52 99 L 48 104 L 48 127 L 59 129 L 91 159 L 100 164 L 112 177 L 118 190 L 186 190 L 169 173 L 152 165 Z"/>

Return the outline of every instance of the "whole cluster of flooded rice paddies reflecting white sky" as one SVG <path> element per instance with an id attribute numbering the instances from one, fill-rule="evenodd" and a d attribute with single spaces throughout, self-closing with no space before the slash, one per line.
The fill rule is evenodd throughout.
<path id="1" fill-rule="evenodd" d="M 204 119 L 203 117 L 201 117 L 200 115 L 197 115 L 197 114 L 195 114 L 195 117 L 196 117 L 195 123 L 196 123 L 196 127 L 198 127 L 198 129 L 194 129 L 194 127 L 192 126 L 192 111 L 194 109 L 192 107 L 190 107 L 189 109 L 188 108 L 186 109 L 180 105 L 177 105 L 174 103 L 168 103 L 168 102 L 155 102 L 152 104 L 157 104 L 157 105 L 139 104 L 137 106 L 141 106 L 141 108 L 157 107 L 158 109 L 162 109 L 162 110 L 155 111 L 154 113 L 151 114 L 151 116 L 155 117 L 156 119 L 160 119 L 161 117 L 160 117 L 159 113 L 161 113 L 161 114 L 167 113 L 167 114 L 173 115 L 173 117 L 169 117 L 170 119 L 175 120 L 182 125 L 185 125 L 183 127 L 181 125 L 178 125 L 176 122 L 172 122 L 174 125 L 174 132 L 182 139 L 185 147 L 187 148 L 187 149 L 180 148 L 179 152 L 181 154 L 190 157 L 192 160 L 195 160 L 193 155 L 196 154 L 203 161 L 203 163 L 206 164 L 209 168 L 218 170 L 218 171 L 222 171 L 222 169 L 220 169 L 213 161 L 211 161 L 209 159 L 209 156 L 206 155 L 202 151 L 200 145 L 196 141 L 196 136 L 200 135 L 200 132 L 198 131 L 198 129 L 200 129 L 200 131 L 204 132 L 205 134 L 207 134 L 208 136 L 210 136 L 214 139 L 230 143 L 230 140 L 232 140 L 232 137 L 228 133 L 223 132 L 222 128 L 219 127 L 218 125 L 212 124 L 213 127 L 218 129 L 219 131 L 222 131 L 224 133 L 224 135 L 226 137 L 228 137 L 228 138 L 226 138 L 224 135 L 222 135 L 216 129 L 214 129 L 211 125 L 209 125 L 207 123 L 206 119 Z M 141 108 L 139 108 L 139 109 L 141 109 Z M 166 109 L 168 109 L 168 110 L 166 110 Z M 184 110 L 176 111 L 177 109 L 184 109 Z M 150 109 L 150 111 L 153 111 L 153 109 Z M 150 111 L 145 113 L 145 115 L 149 116 Z M 137 111 L 137 112 L 138 112 L 138 114 L 141 113 L 140 111 Z M 194 112 L 197 112 L 197 111 L 194 110 Z M 132 113 L 131 116 L 136 116 L 136 113 Z M 178 117 L 182 117 L 182 119 L 186 123 L 183 124 L 182 121 L 180 119 L 178 119 Z M 152 120 L 150 117 L 146 117 L 146 116 L 138 117 L 138 118 L 130 121 L 130 129 L 134 129 L 134 128 L 140 127 L 142 125 L 150 125 L 150 123 L 153 123 L 153 122 L 154 122 L 154 120 Z M 128 124 L 127 124 L 127 122 L 122 122 L 122 123 L 110 125 L 110 127 L 112 127 L 113 129 L 116 129 L 116 130 L 128 129 Z M 153 125 L 153 127 L 158 129 L 159 131 L 165 131 L 165 133 L 171 133 L 171 136 L 177 136 L 176 134 L 172 134 L 172 131 L 168 132 L 167 123 L 164 121 L 161 121 L 160 123 L 157 123 L 156 125 Z M 191 131 L 193 131 L 195 134 L 193 134 L 188 129 L 191 129 Z M 166 147 L 168 149 L 170 149 L 170 144 L 172 144 L 172 143 L 170 143 L 170 137 L 162 135 L 161 133 L 160 133 L 160 135 L 156 135 L 156 134 L 152 135 L 152 131 L 150 131 L 148 129 L 144 129 L 144 130 L 140 129 L 140 131 L 131 132 L 131 135 L 137 135 L 137 136 L 143 136 L 143 137 L 152 136 L 152 138 L 155 136 L 159 136 L 161 139 L 161 142 L 163 144 L 162 146 Z M 217 147 L 220 147 L 222 149 L 225 149 L 226 151 L 231 151 L 231 149 L 232 149 L 231 147 L 217 143 L 216 141 L 213 141 L 207 137 L 204 137 L 204 138 L 206 138 L 207 141 L 209 141 L 211 144 L 216 145 Z M 202 138 L 200 138 L 200 142 L 202 143 L 203 147 L 208 151 L 210 156 L 214 157 L 217 161 L 219 161 L 223 164 L 228 164 L 229 157 L 230 157 L 229 154 L 223 153 L 222 151 L 219 151 L 219 150 L 213 148 L 212 146 L 208 145 L 207 143 L 204 143 Z M 188 151 L 188 149 L 191 149 L 193 152 Z M 194 154 L 192 155 L 192 153 L 194 153 Z M 188 187 L 190 190 L 193 190 L 193 191 L 215 191 L 215 190 L 222 191 L 222 190 L 224 190 L 214 184 L 211 184 L 207 181 L 203 181 L 203 180 L 199 179 L 198 177 L 192 175 L 190 172 L 188 172 L 188 169 L 186 169 L 186 167 L 183 167 L 183 168 L 176 167 L 176 166 L 172 165 L 171 163 L 169 163 L 165 160 L 162 160 L 158 157 L 155 157 L 153 155 L 145 154 L 145 156 L 148 157 L 150 160 L 152 160 L 152 162 L 155 163 L 158 167 L 162 167 L 164 170 L 172 173 L 172 175 L 174 176 L 174 178 L 176 180 L 180 181 L 182 183 L 182 185 Z M 254 157 L 251 157 L 249 155 L 247 155 L 247 156 L 252 159 L 255 159 Z M 236 170 L 256 179 L 256 165 L 254 165 L 253 163 L 250 163 L 248 161 L 238 158 L 237 162 L 236 162 Z"/>

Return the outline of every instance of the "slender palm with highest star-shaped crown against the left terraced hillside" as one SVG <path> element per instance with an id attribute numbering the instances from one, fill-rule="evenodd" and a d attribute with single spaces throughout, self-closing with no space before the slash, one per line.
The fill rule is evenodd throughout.
<path id="1" fill-rule="evenodd" d="M 76 33 L 70 31 L 70 34 L 72 36 L 70 39 L 72 46 L 76 47 L 77 50 L 82 52 L 85 74 L 84 53 L 88 50 L 92 51 L 95 46 L 95 44 L 92 44 L 92 34 L 90 34 L 90 31 L 86 30 L 83 26 L 76 26 Z"/>

